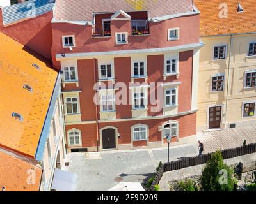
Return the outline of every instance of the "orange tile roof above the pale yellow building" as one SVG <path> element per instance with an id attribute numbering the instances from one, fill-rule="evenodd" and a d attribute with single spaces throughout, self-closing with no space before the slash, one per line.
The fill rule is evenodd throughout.
<path id="1" fill-rule="evenodd" d="M 250 33 L 256 31 L 255 0 L 194 0 L 200 10 L 200 35 Z M 238 3 L 243 13 L 237 13 Z M 219 18 L 221 4 L 227 4 L 227 18 Z M 222 6 L 222 5 L 221 5 Z M 222 8 L 220 6 L 220 8 Z M 222 9 L 223 10 L 223 9 Z"/>

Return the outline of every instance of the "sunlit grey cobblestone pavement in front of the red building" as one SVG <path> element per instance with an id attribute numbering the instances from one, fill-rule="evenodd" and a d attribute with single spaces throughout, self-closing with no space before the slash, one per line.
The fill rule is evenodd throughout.
<path id="1" fill-rule="evenodd" d="M 86 159 L 84 153 L 68 154 L 68 171 L 78 174 L 77 191 L 108 191 L 124 182 L 143 182 L 167 160 L 167 148 L 101 152 L 101 159 Z M 198 154 L 196 144 L 170 147 L 170 160 Z M 120 181 L 120 180 L 119 180 Z"/>

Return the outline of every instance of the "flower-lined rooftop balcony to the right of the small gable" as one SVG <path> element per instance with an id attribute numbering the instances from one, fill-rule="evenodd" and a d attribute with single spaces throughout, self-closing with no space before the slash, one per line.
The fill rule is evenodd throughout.
<path id="1" fill-rule="evenodd" d="M 149 23 L 147 20 L 131 20 L 132 36 L 149 35 Z"/>

